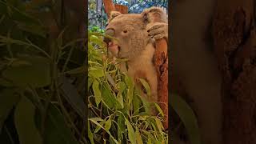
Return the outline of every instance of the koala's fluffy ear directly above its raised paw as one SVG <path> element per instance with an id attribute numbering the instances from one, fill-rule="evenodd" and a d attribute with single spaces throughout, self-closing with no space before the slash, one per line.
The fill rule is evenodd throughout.
<path id="1" fill-rule="evenodd" d="M 142 12 L 143 22 L 167 22 L 166 12 L 159 7 L 151 7 Z"/>

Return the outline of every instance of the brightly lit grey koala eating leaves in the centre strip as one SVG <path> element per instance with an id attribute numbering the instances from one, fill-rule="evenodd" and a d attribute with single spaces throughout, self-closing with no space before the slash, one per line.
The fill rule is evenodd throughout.
<path id="1" fill-rule="evenodd" d="M 158 18 L 153 18 L 158 17 Z M 158 20 L 158 22 L 155 22 Z M 152 7 L 142 14 L 120 14 L 111 12 L 104 38 L 107 49 L 115 58 L 128 59 L 120 64 L 120 70 L 126 72 L 136 83 L 144 78 L 149 83 L 150 102 L 158 102 L 158 78 L 154 67 L 155 41 L 168 38 L 168 25 L 163 10 Z M 142 94 L 143 95 L 143 94 Z"/>

